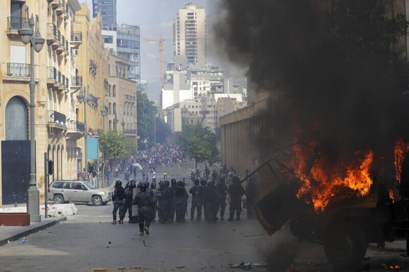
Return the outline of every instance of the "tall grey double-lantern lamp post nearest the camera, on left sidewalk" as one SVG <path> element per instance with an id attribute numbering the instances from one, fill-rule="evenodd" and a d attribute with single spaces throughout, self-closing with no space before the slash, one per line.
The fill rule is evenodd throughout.
<path id="1" fill-rule="evenodd" d="M 35 29 L 35 32 L 34 32 Z M 18 35 L 24 44 L 30 42 L 30 186 L 27 190 L 27 212 L 30 221 L 41 222 L 40 216 L 40 191 L 37 188 L 36 163 L 35 163 L 35 81 L 34 81 L 34 51 L 39 53 L 46 42 L 38 31 L 38 15 L 31 14 L 29 18 L 29 7 L 26 7 L 26 21 L 18 30 Z"/>

